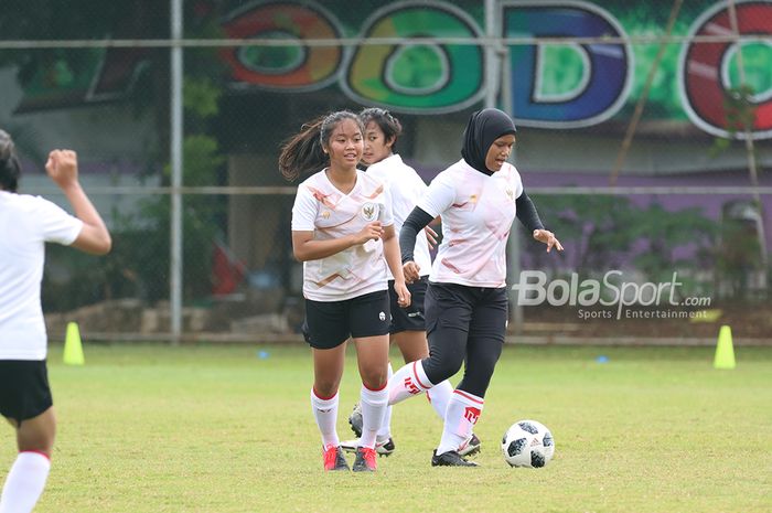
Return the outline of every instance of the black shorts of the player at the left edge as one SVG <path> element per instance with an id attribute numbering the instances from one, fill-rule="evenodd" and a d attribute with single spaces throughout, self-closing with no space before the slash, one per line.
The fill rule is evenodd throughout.
<path id="1" fill-rule="evenodd" d="M 53 406 L 45 360 L 0 360 L 0 414 L 21 424 Z"/>

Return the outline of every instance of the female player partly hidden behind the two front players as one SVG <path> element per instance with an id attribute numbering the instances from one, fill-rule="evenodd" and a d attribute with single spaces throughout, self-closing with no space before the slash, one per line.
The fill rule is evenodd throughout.
<path id="1" fill-rule="evenodd" d="M 399 154 L 395 153 L 397 139 L 403 132 L 403 126 L 390 113 L 380 108 L 367 108 L 360 113 L 360 119 L 365 127 L 365 147 L 362 161 L 368 165 L 367 174 L 385 183 L 390 192 L 392 211 L 394 212 L 394 228 L 399 234 L 405 217 L 416 206 L 418 200 L 427 190 L 423 180 L 415 169 L 403 162 Z M 410 308 L 400 309 L 397 306 L 397 295 L 394 290 L 394 278 L 389 276 L 389 297 L 392 301 L 392 324 L 389 328 L 390 342 L 396 343 L 403 353 L 405 363 L 415 362 L 429 356 L 429 348 L 426 341 L 426 323 L 423 321 L 423 296 L 426 293 L 427 277 L 431 269 L 429 255 L 429 241 L 426 229 L 433 242 L 437 235 L 427 226 L 418 233 L 414 252 L 416 265 L 420 268 L 419 278 L 408 284 L 410 290 Z M 389 377 L 392 365 L 388 366 Z M 440 419 L 444 419 L 448 400 L 453 393 L 453 387 L 447 380 L 427 392 L 431 406 L 433 406 Z M 388 456 L 394 452 L 395 445 L 392 439 L 392 407 L 386 409 L 384 421 L 378 429 L 376 451 L 378 455 Z M 356 436 L 362 435 L 362 414 L 357 405 L 349 418 Z M 354 450 L 356 440 L 343 442 L 343 448 Z M 480 440 L 472 435 L 464 440 L 459 453 L 470 455 L 480 450 Z"/>

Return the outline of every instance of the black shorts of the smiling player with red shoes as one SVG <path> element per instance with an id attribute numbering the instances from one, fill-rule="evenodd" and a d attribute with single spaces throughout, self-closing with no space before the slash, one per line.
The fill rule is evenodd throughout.
<path id="1" fill-rule="evenodd" d="M 333 349 L 349 340 L 388 333 L 388 291 L 365 293 L 343 301 L 305 300 L 303 336 L 311 348 Z"/>

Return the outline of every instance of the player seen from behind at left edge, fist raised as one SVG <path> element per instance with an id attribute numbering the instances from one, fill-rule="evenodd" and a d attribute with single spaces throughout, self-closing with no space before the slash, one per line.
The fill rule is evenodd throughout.
<path id="1" fill-rule="evenodd" d="M 105 223 L 78 183 L 75 152 L 52 151 L 45 170 L 75 217 L 40 196 L 17 193 L 21 165 L 13 141 L 0 130 L 0 414 L 15 429 L 19 449 L 2 489 L 2 513 L 32 511 L 51 468 L 56 420 L 40 300 L 44 243 L 95 255 L 111 246 Z"/>

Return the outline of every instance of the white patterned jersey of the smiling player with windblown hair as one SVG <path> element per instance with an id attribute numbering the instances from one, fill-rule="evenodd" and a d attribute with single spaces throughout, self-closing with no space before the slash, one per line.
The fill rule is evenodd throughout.
<path id="1" fill-rule="evenodd" d="M 344 194 L 322 170 L 298 186 L 292 231 L 313 232 L 314 239 L 360 233 L 368 223 L 394 224 L 388 189 L 364 171 L 356 171 L 354 189 Z M 303 263 L 303 296 L 313 301 L 343 301 L 387 290 L 383 241 L 368 241 L 335 255 Z"/>

